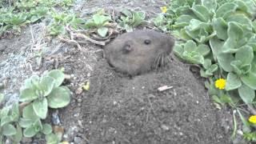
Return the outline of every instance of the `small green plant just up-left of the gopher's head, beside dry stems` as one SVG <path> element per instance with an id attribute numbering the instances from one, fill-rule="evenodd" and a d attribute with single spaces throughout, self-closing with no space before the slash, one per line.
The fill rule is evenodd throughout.
<path id="1" fill-rule="evenodd" d="M 88 22 L 86 22 L 83 28 L 85 29 L 95 29 L 96 33 L 101 37 L 106 37 L 108 33 L 107 25 L 111 22 L 109 15 L 104 14 L 94 14 Z"/>

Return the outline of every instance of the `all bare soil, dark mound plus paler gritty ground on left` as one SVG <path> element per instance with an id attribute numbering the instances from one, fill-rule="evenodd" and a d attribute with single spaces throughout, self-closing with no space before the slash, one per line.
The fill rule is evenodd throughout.
<path id="1" fill-rule="evenodd" d="M 139 7 L 150 15 L 159 13 L 165 1 L 77 1 L 75 11 L 90 14 L 98 8 Z M 133 78 L 116 73 L 103 58 L 104 47 L 88 42 L 75 46 L 45 36 L 45 22 L 27 26 L 20 36 L 0 40 L 0 92 L 6 105 L 18 101 L 18 90 L 31 74 L 65 68 L 65 84 L 72 90 L 69 106 L 51 110 L 53 125 L 65 129 L 63 139 L 77 144 L 197 143 L 228 144 L 232 125 L 229 110 L 217 110 L 203 81 L 189 66 L 172 62 L 161 70 Z M 35 54 L 44 51 L 41 57 Z M 42 59 L 40 59 L 42 58 Z M 90 90 L 79 89 L 90 81 Z M 158 91 L 160 86 L 171 89 Z M 60 122 L 54 122 L 58 114 Z M 239 127 L 240 128 L 240 127 Z M 26 139 L 22 143 L 45 143 Z M 241 143 L 241 142 L 240 142 Z"/>

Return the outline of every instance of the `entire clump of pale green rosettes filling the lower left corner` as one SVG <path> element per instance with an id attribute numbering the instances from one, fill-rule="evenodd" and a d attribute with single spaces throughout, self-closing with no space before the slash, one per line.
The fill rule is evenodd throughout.
<path id="1" fill-rule="evenodd" d="M 45 134 L 47 143 L 60 142 L 61 138 L 53 133 L 52 126 L 42 121 L 48 115 L 48 107 L 58 109 L 70 103 L 70 90 L 61 86 L 63 80 L 61 70 L 26 79 L 20 90 L 20 103 L 3 107 L 0 111 L 0 143 L 6 142 L 6 138 L 18 143 L 23 137 L 31 138 L 38 134 Z"/>

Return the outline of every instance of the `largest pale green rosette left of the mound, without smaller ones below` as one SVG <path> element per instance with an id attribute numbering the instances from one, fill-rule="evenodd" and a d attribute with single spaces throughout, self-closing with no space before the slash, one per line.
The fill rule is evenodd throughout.
<path id="1" fill-rule="evenodd" d="M 48 106 L 56 109 L 67 106 L 70 102 L 70 90 L 61 86 L 63 80 L 64 74 L 60 70 L 51 70 L 41 78 L 34 75 L 26 79 L 20 102 L 30 102 L 27 107 L 30 107 L 38 118 L 46 118 Z"/>

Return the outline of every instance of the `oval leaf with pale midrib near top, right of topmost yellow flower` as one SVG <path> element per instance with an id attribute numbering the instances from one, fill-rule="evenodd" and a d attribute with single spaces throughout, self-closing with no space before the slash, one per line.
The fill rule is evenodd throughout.
<path id="1" fill-rule="evenodd" d="M 191 10 L 193 10 L 194 14 L 202 21 L 208 22 L 210 21 L 210 12 L 207 10 L 206 6 L 202 5 L 194 5 Z"/>

